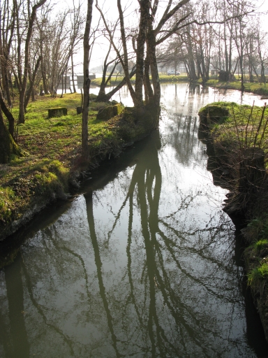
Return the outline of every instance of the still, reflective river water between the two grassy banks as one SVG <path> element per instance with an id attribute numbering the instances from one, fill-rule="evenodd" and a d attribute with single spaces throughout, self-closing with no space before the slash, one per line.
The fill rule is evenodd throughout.
<path id="1" fill-rule="evenodd" d="M 240 94 L 162 94 L 159 131 L 39 215 L 0 271 L 0 357 L 265 357 L 226 190 L 198 140 L 200 107 Z"/>

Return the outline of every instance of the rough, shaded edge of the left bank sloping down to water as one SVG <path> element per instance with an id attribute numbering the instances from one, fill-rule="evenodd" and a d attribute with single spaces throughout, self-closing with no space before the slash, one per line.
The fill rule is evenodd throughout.
<path id="1" fill-rule="evenodd" d="M 3 224 L 0 225 L 0 242 L 7 243 L 8 238 L 13 236 L 22 227 L 26 227 L 34 219 L 35 215 L 47 206 L 50 206 L 53 202 L 66 200 L 75 195 L 80 188 L 80 183 L 83 180 L 89 179 L 90 171 L 100 166 L 105 159 L 109 158 L 112 160 L 118 157 L 125 148 L 149 136 L 158 127 L 159 113 L 155 112 L 155 108 L 145 106 L 143 113 L 137 115 L 135 108 L 124 108 L 120 115 L 105 120 L 109 124 L 110 130 L 114 133 L 113 138 L 110 139 L 109 148 L 100 148 L 96 155 L 96 148 L 91 148 L 91 143 L 89 143 L 89 153 L 94 152 L 94 156 L 89 159 L 89 162 L 81 162 L 79 154 L 74 161 L 74 166 L 69 169 L 66 169 L 64 164 L 58 161 L 56 168 L 51 169 L 55 165 L 50 165 L 50 171 L 55 177 L 53 182 L 42 182 L 42 192 L 40 193 L 39 190 L 38 194 L 32 194 L 29 201 L 20 207 L 18 213 L 13 213 L 12 208 L 10 209 L 12 220 L 4 226 Z M 37 191 L 33 190 L 33 192 Z M 10 258 L 6 257 L 6 259 L 7 262 L 2 262 L 1 266 L 10 264 Z"/>

